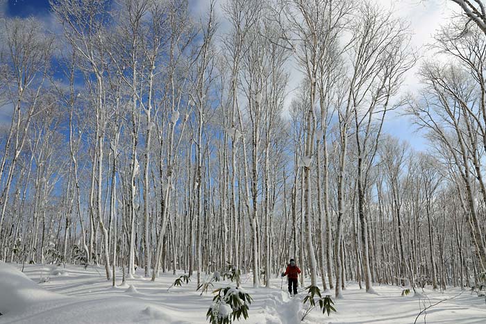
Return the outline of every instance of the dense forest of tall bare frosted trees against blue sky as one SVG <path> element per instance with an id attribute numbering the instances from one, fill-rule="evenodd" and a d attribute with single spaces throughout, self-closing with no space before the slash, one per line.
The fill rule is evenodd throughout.
<path id="1" fill-rule="evenodd" d="M 0 259 L 99 264 L 114 284 L 230 266 L 269 287 L 294 257 L 302 287 L 336 297 L 348 280 L 474 286 L 486 15 L 471 3 L 424 60 L 408 23 L 367 1 L 194 15 L 187 0 L 51 0 L 54 32 L 1 17 Z"/>

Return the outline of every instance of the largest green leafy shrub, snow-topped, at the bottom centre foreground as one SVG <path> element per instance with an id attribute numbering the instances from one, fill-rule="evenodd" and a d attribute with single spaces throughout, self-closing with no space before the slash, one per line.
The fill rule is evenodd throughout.
<path id="1" fill-rule="evenodd" d="M 213 291 L 217 293 L 212 298 L 212 304 L 206 313 L 206 319 L 211 324 L 229 324 L 235 319 L 240 321 L 243 316 L 248 318 L 251 296 L 240 287 L 219 288 Z"/>

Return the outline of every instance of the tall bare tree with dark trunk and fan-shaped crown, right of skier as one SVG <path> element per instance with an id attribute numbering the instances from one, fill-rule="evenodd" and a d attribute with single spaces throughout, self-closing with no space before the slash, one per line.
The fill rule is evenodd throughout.
<path id="1" fill-rule="evenodd" d="M 353 90 L 355 140 L 358 155 L 357 196 L 361 224 L 362 263 L 367 292 L 371 288 L 367 215 L 364 211 L 364 192 L 367 190 L 369 171 L 374 162 L 383 121 L 390 107 L 391 97 L 398 91 L 403 74 L 414 65 L 414 58 L 406 49 L 406 26 L 391 18 L 388 12 L 367 7 L 362 12 L 356 53 L 356 67 L 364 70 Z M 360 53 L 361 52 L 361 53 Z M 376 134 L 371 135 L 375 115 L 379 114 Z M 374 138 L 371 138 L 374 137 Z M 368 146 L 368 141 L 373 143 Z"/>

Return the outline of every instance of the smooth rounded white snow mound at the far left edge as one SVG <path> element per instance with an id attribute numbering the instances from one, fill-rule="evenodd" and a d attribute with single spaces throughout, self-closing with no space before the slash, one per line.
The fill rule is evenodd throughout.
<path id="1" fill-rule="evenodd" d="M 13 266 L 0 261 L 0 313 L 22 313 L 38 302 L 65 298 L 47 291 Z"/>

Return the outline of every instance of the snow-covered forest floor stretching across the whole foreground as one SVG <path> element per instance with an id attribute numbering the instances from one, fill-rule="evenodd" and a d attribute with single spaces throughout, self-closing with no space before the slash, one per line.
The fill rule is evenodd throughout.
<path id="1" fill-rule="evenodd" d="M 151 282 L 139 270 L 139 276 L 127 280 L 126 287 L 112 288 L 103 279 L 101 267 L 55 269 L 35 264 L 26 265 L 24 274 L 17 270 L 21 268 L 22 265 L 0 262 L 0 323 L 208 323 L 206 312 L 212 293 L 199 296 L 196 282 L 167 291 L 178 278 L 172 273 L 164 273 Z M 242 286 L 253 298 L 249 319 L 242 323 L 300 323 L 303 293 L 290 298 L 285 282 L 280 289 L 280 278 L 271 282 L 271 289 L 253 289 L 251 278 L 246 275 L 242 280 Z M 226 284 L 218 282 L 215 288 Z M 460 289 L 448 289 L 445 293 L 426 289 L 424 298 L 419 298 L 413 293 L 402 297 L 399 287 L 382 286 L 375 290 L 379 295 L 365 293 L 350 283 L 344 299 L 335 301 L 337 313 L 327 316 L 315 309 L 303 323 L 414 323 L 424 305 L 461 293 Z M 464 291 L 428 309 L 426 318 L 420 316 L 417 323 L 485 324 L 485 301 Z"/>

